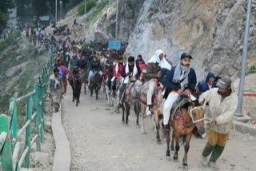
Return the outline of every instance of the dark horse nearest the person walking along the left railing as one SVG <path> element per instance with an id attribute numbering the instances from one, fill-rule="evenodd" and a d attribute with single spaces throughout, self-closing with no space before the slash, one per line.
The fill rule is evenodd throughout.
<path id="1" fill-rule="evenodd" d="M 78 103 L 80 102 L 80 93 L 82 88 L 82 77 L 80 74 L 72 74 L 70 75 L 69 79 L 70 85 L 73 90 L 73 102 L 76 99 L 76 106 L 78 106 Z"/>

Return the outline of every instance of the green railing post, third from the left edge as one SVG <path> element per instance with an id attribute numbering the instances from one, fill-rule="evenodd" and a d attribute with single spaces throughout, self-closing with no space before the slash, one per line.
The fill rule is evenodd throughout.
<path id="1" fill-rule="evenodd" d="M 33 101 L 32 97 L 28 97 L 27 104 L 26 104 L 26 121 L 31 121 L 32 117 L 32 106 Z M 26 147 L 30 147 L 30 135 L 31 135 L 31 123 L 26 127 L 26 142 L 25 142 L 25 149 Z M 30 168 L 30 151 L 26 154 L 25 157 L 25 167 Z"/>

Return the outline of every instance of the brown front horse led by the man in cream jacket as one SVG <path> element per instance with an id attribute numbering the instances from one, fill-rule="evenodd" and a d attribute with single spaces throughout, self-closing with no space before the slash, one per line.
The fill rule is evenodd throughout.
<path id="1" fill-rule="evenodd" d="M 182 97 L 183 96 L 183 97 Z M 178 161 L 179 138 L 181 135 L 186 135 L 185 154 L 182 160 L 183 169 L 188 169 L 187 165 L 187 153 L 190 149 L 190 140 L 192 137 L 192 131 L 195 127 L 198 128 L 200 133 L 205 132 L 204 128 L 204 110 L 202 101 L 198 106 L 194 101 L 191 101 L 188 95 L 180 94 L 178 101 L 174 103 L 173 109 L 171 109 L 171 115 L 169 124 L 173 129 L 172 140 L 170 145 L 170 135 L 166 136 L 167 150 L 166 157 L 170 160 L 170 151 L 174 153 L 174 161 Z M 175 141 L 175 152 L 174 152 Z"/>

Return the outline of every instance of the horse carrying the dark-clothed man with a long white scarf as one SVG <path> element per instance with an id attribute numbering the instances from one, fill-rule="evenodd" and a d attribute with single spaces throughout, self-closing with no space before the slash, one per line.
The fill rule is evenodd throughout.
<path id="1" fill-rule="evenodd" d="M 136 125 L 138 126 L 138 117 L 140 113 L 140 104 L 139 104 L 139 93 L 138 89 L 142 85 L 142 82 L 138 79 L 131 78 L 131 83 L 126 87 L 126 96 L 124 96 L 122 104 L 122 122 L 125 122 L 128 125 L 130 107 L 134 105 L 134 113 L 136 114 Z M 126 111 L 126 119 L 125 119 Z"/>

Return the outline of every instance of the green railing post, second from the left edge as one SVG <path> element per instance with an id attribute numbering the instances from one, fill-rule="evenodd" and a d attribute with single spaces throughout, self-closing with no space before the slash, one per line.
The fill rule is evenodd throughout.
<path id="1" fill-rule="evenodd" d="M 10 140 L 17 139 L 17 105 L 14 97 L 10 98 L 9 101 L 10 109 L 8 110 L 8 116 L 10 120 Z M 12 150 L 14 150 L 15 143 L 12 144 Z"/>

